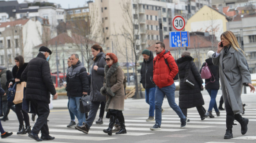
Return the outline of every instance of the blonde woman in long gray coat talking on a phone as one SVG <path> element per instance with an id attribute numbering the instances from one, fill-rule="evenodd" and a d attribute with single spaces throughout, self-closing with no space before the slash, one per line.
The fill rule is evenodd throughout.
<path id="1" fill-rule="evenodd" d="M 232 127 L 234 119 L 241 125 L 241 134 L 247 132 L 248 119 L 243 118 L 241 93 L 242 86 L 249 86 L 254 93 L 255 88 L 251 84 L 251 74 L 246 67 L 244 51 L 238 45 L 236 36 L 231 31 L 221 34 L 221 42 L 218 50 L 212 55 L 212 62 L 219 67 L 222 95 L 226 108 L 226 134 L 224 139 L 233 138 Z"/>

